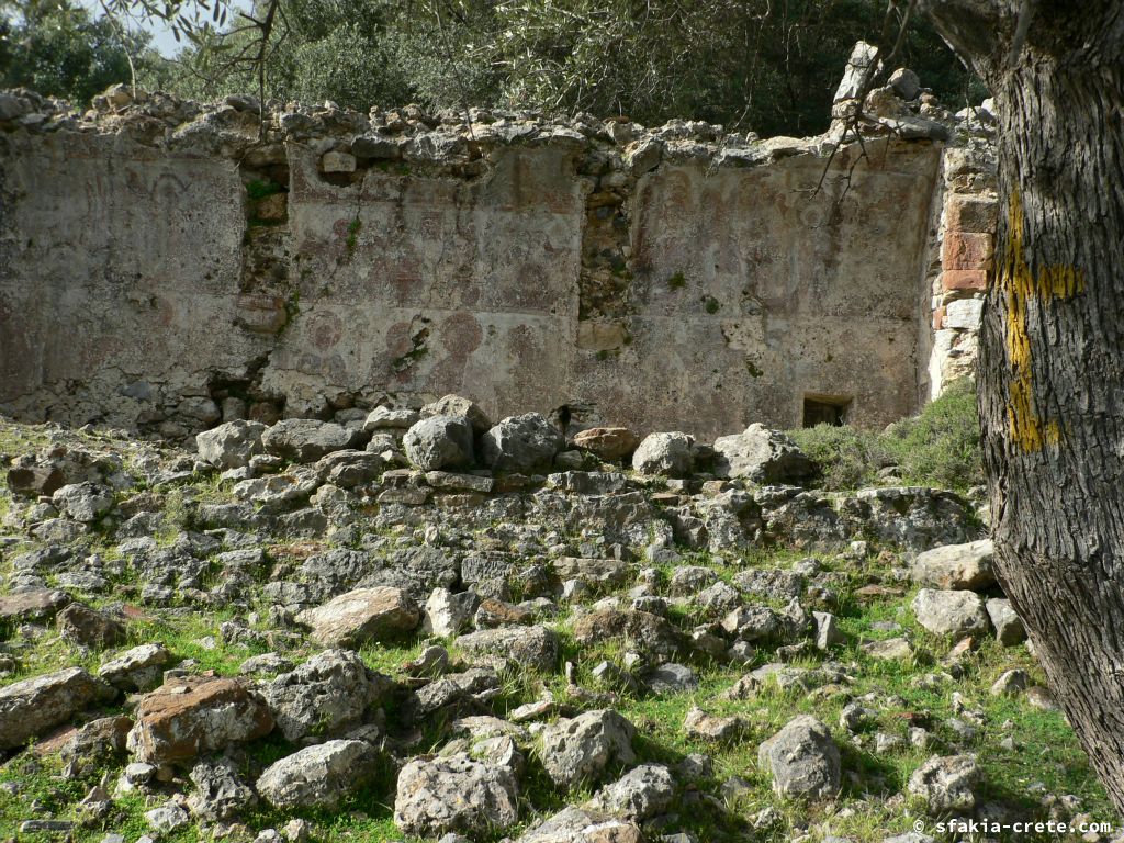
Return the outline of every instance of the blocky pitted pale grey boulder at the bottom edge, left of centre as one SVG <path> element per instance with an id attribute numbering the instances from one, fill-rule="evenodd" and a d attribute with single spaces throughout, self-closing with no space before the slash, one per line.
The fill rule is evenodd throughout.
<path id="1" fill-rule="evenodd" d="M 518 818 L 518 786 L 511 770 L 468 755 L 410 761 L 398 774 L 395 825 L 405 834 L 473 837 L 506 828 Z"/>

